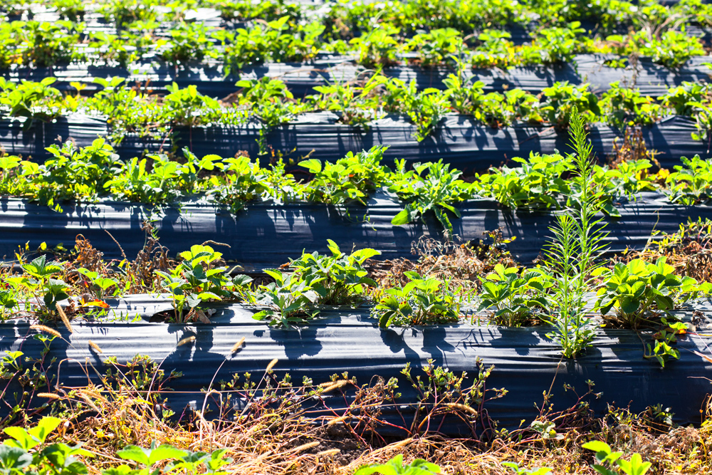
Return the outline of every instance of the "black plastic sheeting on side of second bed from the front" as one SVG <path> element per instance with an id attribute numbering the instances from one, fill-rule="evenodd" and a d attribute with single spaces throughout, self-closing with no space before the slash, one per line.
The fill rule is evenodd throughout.
<path id="1" fill-rule="evenodd" d="M 327 239 L 343 251 L 373 248 L 379 259 L 415 259 L 412 244 L 421 236 L 443 238 L 443 228 L 431 214 L 425 223 L 404 226 L 391 224 L 402 204 L 379 192 L 368 207 L 350 207 L 348 212 L 323 204 L 253 204 L 239 214 L 214 207 L 184 204 L 182 209 L 167 208 L 162 214 L 137 204 L 102 202 L 63 204 L 63 212 L 19 199 L 0 201 L 0 256 L 13 259 L 20 244 L 36 249 L 42 242 L 53 247 L 73 246 L 82 234 L 104 253 L 105 259 L 122 259 L 122 250 L 134 259 L 144 244 L 142 221 L 155 219 L 162 245 L 172 255 L 192 244 L 217 241 L 224 258 L 239 263 L 245 271 L 274 268 L 296 259 L 302 251 L 328 253 Z M 550 239 L 554 216 L 544 212 L 503 209 L 491 199 L 471 200 L 458 205 L 461 219 L 451 216 L 454 234 L 466 241 L 480 239 L 486 231 L 501 229 L 511 254 L 522 263 L 536 259 Z M 661 194 L 646 193 L 619 207 L 620 218 L 606 220 L 609 235 L 604 240 L 610 252 L 627 248 L 643 249 L 652 231 L 674 233 L 688 219 L 712 219 L 712 207 L 675 206 Z M 108 232 L 111 236 L 108 234 Z M 122 249 L 115 244 L 116 239 Z"/>

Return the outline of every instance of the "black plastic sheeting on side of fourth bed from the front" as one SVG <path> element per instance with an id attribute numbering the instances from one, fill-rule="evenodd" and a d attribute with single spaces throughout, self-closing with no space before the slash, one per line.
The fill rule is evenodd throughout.
<path id="1" fill-rule="evenodd" d="M 704 63 L 710 58 L 696 56 L 680 68 L 671 70 L 654 63 L 651 58 L 642 57 L 634 65 L 625 68 L 612 68 L 606 65 L 614 56 L 601 54 L 580 54 L 570 63 L 554 66 L 518 66 L 502 70 L 500 68 L 475 68 L 468 73 L 473 81 L 481 81 L 485 92 L 502 92 L 513 88 L 540 93 L 556 82 L 567 81 L 571 84 L 589 83 L 595 93 L 604 93 L 610 85 L 619 82 L 627 87 L 637 88 L 642 95 L 654 98 L 662 95 L 669 88 L 683 82 L 707 82 L 712 71 Z M 350 56 L 320 55 L 308 63 L 265 63 L 248 66 L 238 73 L 226 75 L 221 63 L 200 66 L 175 66 L 152 61 L 137 63 L 129 68 L 117 66 L 95 66 L 89 64 L 71 64 L 53 68 L 12 68 L 0 72 L 5 78 L 13 80 L 41 80 L 53 76 L 58 82 L 53 87 L 74 93 L 72 82 L 85 83 L 84 94 L 100 90 L 94 78 L 125 78 L 126 85 L 142 84 L 152 90 L 161 90 L 166 85 L 177 83 L 186 88 L 195 85 L 201 94 L 214 98 L 224 98 L 236 92 L 236 82 L 240 79 L 257 80 L 278 78 L 283 80 L 295 97 L 315 94 L 317 86 L 333 83 L 347 83 L 361 78 L 369 70 L 358 66 Z M 444 80 L 452 73 L 452 68 L 423 68 L 420 66 L 394 66 L 384 68 L 382 73 L 392 78 L 415 81 L 417 88 L 444 89 Z"/>

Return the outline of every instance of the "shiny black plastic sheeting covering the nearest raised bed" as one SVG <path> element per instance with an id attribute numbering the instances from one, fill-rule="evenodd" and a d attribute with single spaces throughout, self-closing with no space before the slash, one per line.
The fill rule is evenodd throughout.
<path id="1" fill-rule="evenodd" d="M 518 427 L 522 419 L 531 422 L 539 414 L 534 404 L 541 404 L 541 395 L 550 388 L 551 402 L 557 409 L 575 404 L 576 396 L 563 390 L 565 384 L 583 394 L 587 380 L 592 380 L 593 390 L 602 393 L 598 399 L 587 398 L 597 415 L 607 412 L 607 404 L 629 407 L 633 412 L 662 404 L 675 413 L 676 422 L 683 424 L 701 422 L 700 410 L 711 392 L 706 378 L 712 377 L 712 365 L 691 352 L 707 352 L 706 345 L 712 342 L 708 336 L 695 333 L 680 338 L 677 343 L 680 360 L 671 361 L 662 369 L 654 359 L 643 357 L 639 337 L 627 330 L 598 330 L 592 348 L 585 355 L 562 361 L 560 349 L 545 337 L 547 328 L 461 324 L 382 330 L 367 310 L 326 310 L 324 318 L 308 326 L 283 330 L 253 320 L 251 310 L 242 306 L 219 308 L 215 323 L 210 325 L 75 322 L 71 335 L 59 328 L 67 341 L 56 339 L 51 343 L 48 356 L 63 360 L 61 373 L 53 383 L 64 387 L 86 385 L 85 358 L 94 367 L 102 368 L 108 357 L 116 357 L 121 364 L 137 354 L 147 355 L 162 362 L 162 370 L 183 373 L 169 383 L 175 392 L 167 394 L 168 404 L 180 414 L 187 405 L 202 407 L 204 389 L 214 376 L 215 381 L 230 380 L 234 373 L 251 372 L 259 379 L 268 363 L 278 359 L 274 367 L 276 377 L 289 373 L 295 384 L 303 377 L 319 384 L 342 372 L 348 372 L 348 377 L 355 378 L 358 385 L 375 383 L 378 377 L 398 378 L 402 397 L 396 407 L 384 407 L 382 418 L 402 426 L 412 420 L 417 404 L 416 393 L 400 374 L 406 363 L 410 363 L 414 377 L 423 375 L 422 368 L 431 359 L 436 366 L 457 374 L 468 372 L 471 378 L 476 374 L 475 361 L 479 357 L 484 365 L 495 367 L 486 387 L 508 390 L 501 399 L 487 402 L 485 409 L 499 427 L 510 429 Z M 28 323 L 1 324 L 2 351 L 20 350 L 24 356 L 37 357 L 43 347 L 31 337 L 33 333 Z M 194 342 L 177 346 L 190 336 L 195 337 Z M 233 345 L 243 337 L 244 348 L 231 354 Z M 98 345 L 103 354 L 90 348 L 88 340 Z M 9 385 L 5 402 L 12 404 L 18 391 L 16 385 Z M 352 399 L 354 388 L 345 387 L 344 392 L 345 398 L 326 397 L 327 406 L 337 410 L 344 407 Z M 215 407 L 217 396 L 209 397 L 208 401 Z M 39 406 L 44 402 L 36 398 L 30 404 Z M 239 404 L 244 401 L 238 401 L 241 409 Z M 3 404 L 0 414 L 5 415 L 7 410 Z M 312 415 L 320 414 L 334 415 L 324 408 Z M 382 429 L 400 432 L 394 427 Z M 441 432 L 449 435 L 468 435 L 468 430 L 454 418 L 441 427 Z"/>

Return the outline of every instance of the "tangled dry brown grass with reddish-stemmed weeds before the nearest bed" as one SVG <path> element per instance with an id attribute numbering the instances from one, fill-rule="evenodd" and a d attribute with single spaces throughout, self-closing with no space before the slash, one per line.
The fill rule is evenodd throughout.
<path id="1" fill-rule="evenodd" d="M 137 385 L 136 367 L 114 367 L 113 376 L 105 377 L 102 385 L 60 388 L 38 395 L 63 408 L 59 415 L 66 422 L 52 440 L 82 443 L 96 454 L 85 460 L 90 474 L 122 464 L 116 452 L 126 445 L 148 447 L 155 441 L 192 451 L 226 448 L 233 459 L 230 474 L 352 475 L 362 465 L 384 463 L 404 454 L 406 461 L 427 459 L 450 475 L 512 474 L 503 465 L 508 461 L 528 468 L 550 467 L 554 474 L 588 475 L 595 473 L 590 468 L 592 452 L 581 446 L 592 439 L 607 442 L 624 456 L 642 454 L 653 464 L 652 475 L 712 473 L 712 417 L 700 428 L 670 427 L 652 409 L 644 414 L 610 409 L 607 417 L 595 419 L 586 404 L 577 404 L 542 416 L 542 420 L 555 423 L 554 438 L 544 439 L 531 429 L 501 432 L 483 441 L 435 433 L 379 437 L 379 427 L 384 427 L 379 411 L 388 403 L 383 382 L 357 387 L 350 380 L 334 380 L 287 387 L 266 373 L 258 384 L 262 392 L 242 392 L 252 397 L 249 409 L 230 417 L 206 419 L 196 412 L 175 420 L 162 414 L 164 396 L 170 398 L 172 393 L 167 391 L 167 378 L 161 372 L 155 377 L 144 373 L 143 380 L 150 379 L 151 384 Z M 155 370 L 155 365 L 152 368 Z M 218 387 L 204 397 L 227 401 L 236 392 L 224 385 Z M 332 414 L 315 411 L 319 404 L 314 401 L 320 395 L 342 388 L 356 391 L 349 408 Z M 457 409 L 456 404 L 446 405 Z M 468 407 L 464 412 L 470 411 Z"/>

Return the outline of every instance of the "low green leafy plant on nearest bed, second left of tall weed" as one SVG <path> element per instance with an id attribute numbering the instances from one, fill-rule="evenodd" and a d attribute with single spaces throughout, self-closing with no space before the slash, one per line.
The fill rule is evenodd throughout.
<path id="1" fill-rule="evenodd" d="M 414 271 L 404 272 L 410 282 L 387 288 L 372 315 L 381 328 L 390 325 L 431 325 L 456 322 L 460 317 L 462 298 L 459 289 L 449 290 L 449 283 L 422 277 Z"/>

